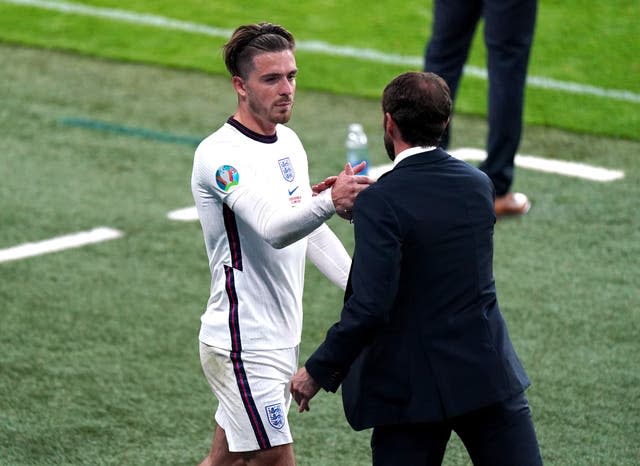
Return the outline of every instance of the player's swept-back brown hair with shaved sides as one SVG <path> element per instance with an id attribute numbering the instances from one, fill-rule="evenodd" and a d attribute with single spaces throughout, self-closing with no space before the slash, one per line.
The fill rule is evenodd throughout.
<path id="1" fill-rule="evenodd" d="M 294 50 L 295 40 L 282 26 L 271 23 L 238 27 L 224 45 L 224 63 L 231 76 L 245 78 L 253 68 L 253 58 L 264 52 Z"/>

